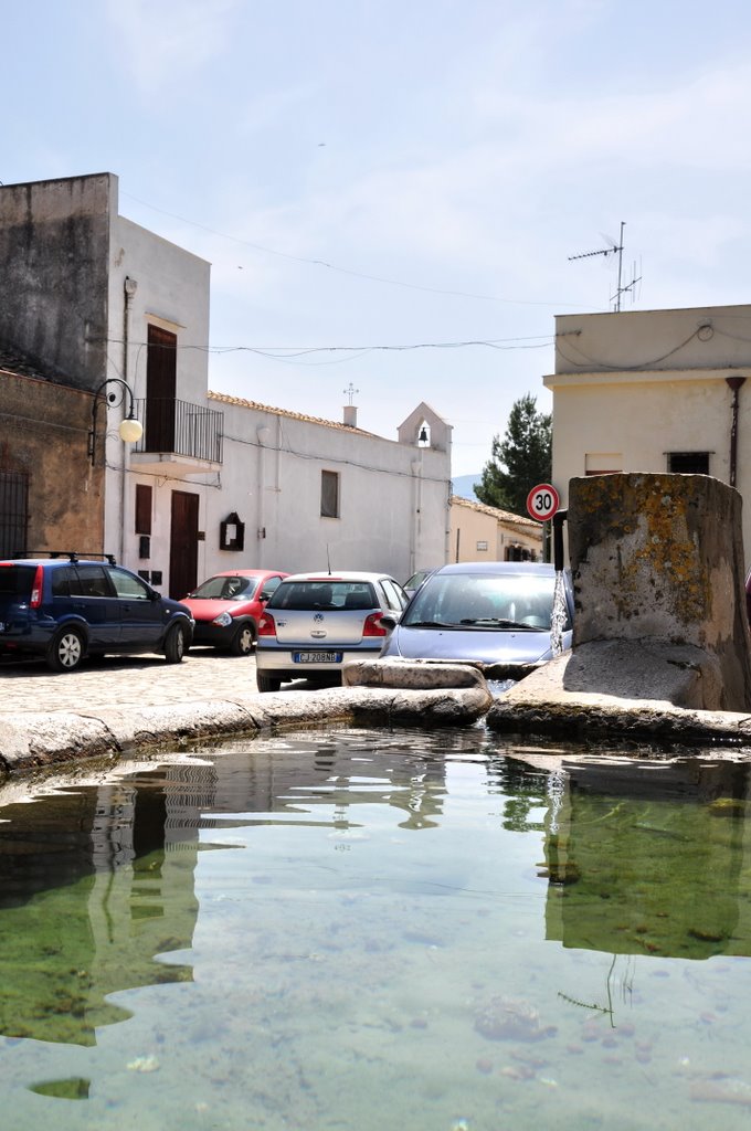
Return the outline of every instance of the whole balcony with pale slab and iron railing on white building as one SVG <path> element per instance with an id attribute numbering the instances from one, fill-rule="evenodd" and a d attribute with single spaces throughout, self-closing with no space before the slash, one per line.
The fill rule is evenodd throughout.
<path id="1" fill-rule="evenodd" d="M 174 397 L 148 397 L 136 400 L 136 415 L 144 434 L 132 448 L 132 468 L 178 474 L 221 468 L 224 413 Z"/>

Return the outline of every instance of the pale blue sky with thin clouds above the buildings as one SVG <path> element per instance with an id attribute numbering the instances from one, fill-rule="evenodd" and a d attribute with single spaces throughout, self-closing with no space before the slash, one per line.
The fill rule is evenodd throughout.
<path id="1" fill-rule="evenodd" d="M 517 399 L 551 411 L 555 316 L 613 309 L 614 247 L 623 311 L 751 301 L 748 0 L 0 17 L 0 181 L 114 173 L 207 259 L 215 391 L 389 439 L 425 400 L 469 475 Z"/>

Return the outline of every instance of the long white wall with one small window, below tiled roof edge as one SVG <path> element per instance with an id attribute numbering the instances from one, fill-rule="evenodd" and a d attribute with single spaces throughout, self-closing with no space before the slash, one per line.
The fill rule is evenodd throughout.
<path id="1" fill-rule="evenodd" d="M 205 572 L 383 570 L 404 581 L 446 561 L 450 449 L 387 440 L 335 423 L 212 395 L 225 413 L 222 491 L 206 494 Z M 321 472 L 339 476 L 339 517 L 322 518 Z M 222 519 L 245 523 L 243 553 L 218 550 Z"/>

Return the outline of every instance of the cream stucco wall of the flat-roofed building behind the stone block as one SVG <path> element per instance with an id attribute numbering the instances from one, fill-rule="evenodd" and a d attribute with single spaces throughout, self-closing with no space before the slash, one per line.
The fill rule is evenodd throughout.
<path id="1" fill-rule="evenodd" d="M 666 472 L 671 452 L 708 452 L 730 482 L 733 390 L 751 378 L 751 307 L 556 319 L 553 483 L 592 472 Z M 736 487 L 751 493 L 751 380 L 739 392 Z M 751 507 L 743 518 L 751 559 Z"/>

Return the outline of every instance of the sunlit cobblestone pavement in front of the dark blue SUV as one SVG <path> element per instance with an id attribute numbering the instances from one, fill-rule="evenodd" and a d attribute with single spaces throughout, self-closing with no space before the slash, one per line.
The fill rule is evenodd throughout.
<path id="1" fill-rule="evenodd" d="M 253 657 L 210 648 L 191 649 L 182 664 L 157 655 L 105 656 L 59 675 L 37 659 L 0 663 L 0 714 L 245 699 L 256 692 Z"/>

